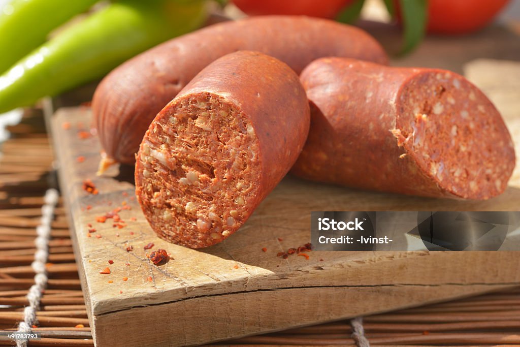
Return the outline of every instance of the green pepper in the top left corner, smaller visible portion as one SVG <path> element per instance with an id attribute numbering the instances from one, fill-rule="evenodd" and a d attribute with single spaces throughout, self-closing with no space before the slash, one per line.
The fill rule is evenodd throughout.
<path id="1" fill-rule="evenodd" d="M 0 73 L 98 0 L 12 0 L 0 8 Z"/>

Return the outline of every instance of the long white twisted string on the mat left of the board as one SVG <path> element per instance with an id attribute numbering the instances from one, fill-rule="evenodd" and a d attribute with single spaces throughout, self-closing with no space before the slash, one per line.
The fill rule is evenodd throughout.
<path id="1" fill-rule="evenodd" d="M 29 306 L 23 310 L 23 321 L 18 324 L 18 331 L 21 333 L 30 333 L 33 324 L 37 323 L 36 312 L 40 310 L 40 302 L 42 300 L 42 292 L 47 287 L 47 269 L 45 264 L 49 258 L 49 239 L 50 224 L 54 219 L 54 210 L 58 204 L 59 194 L 54 188 L 47 189 L 44 197 L 44 205 L 42 206 L 42 217 L 40 225 L 36 227 L 36 252 L 34 253 L 34 261 L 31 264 L 34 273 L 34 285 L 29 289 L 26 295 Z M 27 347 L 29 340 L 18 340 L 18 347 Z"/>

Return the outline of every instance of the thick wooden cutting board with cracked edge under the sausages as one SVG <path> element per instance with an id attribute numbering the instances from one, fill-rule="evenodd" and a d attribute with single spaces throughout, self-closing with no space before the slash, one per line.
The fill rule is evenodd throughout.
<path id="1" fill-rule="evenodd" d="M 134 198 L 132 168 L 114 166 L 105 176 L 95 176 L 98 138 L 81 138 L 90 117 L 89 108 L 60 109 L 51 124 L 98 346 L 207 343 L 520 282 L 520 252 L 313 251 L 308 260 L 277 256 L 309 242 L 310 211 L 518 211 L 518 170 L 503 195 L 484 202 L 380 194 L 286 177 L 238 233 L 211 248 L 192 250 L 152 232 Z M 508 119 L 518 144 L 518 118 Z M 85 179 L 92 179 L 97 195 L 83 189 Z M 118 207 L 124 227 L 114 227 L 112 219 L 96 222 Z M 96 232 L 89 233 L 91 228 Z M 148 243 L 154 246 L 145 250 Z M 130 246 L 133 250 L 127 251 Z M 158 248 L 171 253 L 165 265 L 155 266 L 147 258 Z M 111 273 L 100 274 L 106 267 Z"/>

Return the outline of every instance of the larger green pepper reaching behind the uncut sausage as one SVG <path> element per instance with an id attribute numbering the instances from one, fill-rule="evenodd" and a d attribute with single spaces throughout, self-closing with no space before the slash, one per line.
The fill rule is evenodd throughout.
<path id="1" fill-rule="evenodd" d="M 203 0 L 121 0 L 108 5 L 0 76 L 0 113 L 98 79 L 128 58 L 198 28 L 206 18 L 205 5 Z"/>

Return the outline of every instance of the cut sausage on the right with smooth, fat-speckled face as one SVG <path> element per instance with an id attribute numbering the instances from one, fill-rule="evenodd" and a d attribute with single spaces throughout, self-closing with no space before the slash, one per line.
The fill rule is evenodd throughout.
<path id="1" fill-rule="evenodd" d="M 485 200 L 506 188 L 515 166 L 511 136 L 462 76 L 322 58 L 300 79 L 311 126 L 293 174 L 429 197 Z"/>

